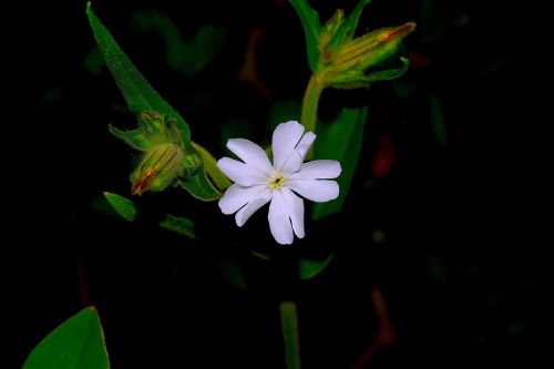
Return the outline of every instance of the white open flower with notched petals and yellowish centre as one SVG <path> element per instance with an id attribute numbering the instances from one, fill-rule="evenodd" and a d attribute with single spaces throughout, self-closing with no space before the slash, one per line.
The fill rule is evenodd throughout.
<path id="1" fill-rule="evenodd" d="M 340 174 L 340 163 L 324 160 L 304 163 L 316 140 L 312 132 L 304 133 L 296 121 L 279 124 L 273 136 L 274 164 L 265 151 L 245 139 L 232 139 L 227 147 L 243 162 L 223 157 L 217 166 L 235 182 L 219 199 L 224 214 L 237 213 L 242 227 L 257 209 L 269 204 L 269 228 L 281 245 L 293 243 L 293 230 L 304 238 L 304 201 L 296 194 L 317 203 L 337 198 L 339 185 L 329 178 Z"/>

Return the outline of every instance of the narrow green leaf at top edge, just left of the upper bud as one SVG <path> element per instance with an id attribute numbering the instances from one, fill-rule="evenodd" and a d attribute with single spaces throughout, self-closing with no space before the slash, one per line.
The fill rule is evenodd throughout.
<path id="1" fill-rule="evenodd" d="M 302 23 L 304 33 L 306 35 L 308 63 L 311 71 L 315 72 L 319 62 L 318 39 L 321 33 L 319 14 L 306 0 L 289 0 L 289 2 L 295 8 L 298 17 L 300 17 L 300 22 Z"/>

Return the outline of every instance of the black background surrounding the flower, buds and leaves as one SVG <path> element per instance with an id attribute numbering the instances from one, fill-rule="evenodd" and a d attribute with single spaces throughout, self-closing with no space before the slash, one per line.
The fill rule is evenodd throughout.
<path id="1" fill-rule="evenodd" d="M 310 3 L 325 21 L 355 2 Z M 267 142 L 275 104 L 302 96 L 304 33 L 286 1 L 93 4 L 216 157 L 225 134 Z M 278 247 L 265 211 L 236 228 L 215 203 L 170 189 L 136 198 L 131 224 L 103 202 L 102 191 L 130 196 L 134 155 L 107 123 L 131 129 L 135 119 L 107 70 L 93 57 L 84 62 L 94 47 L 84 8 L 0 1 L 8 219 L 0 366 L 21 367 L 45 335 L 95 305 L 113 368 L 283 368 L 283 283 L 250 254 Z M 133 13 L 145 9 L 170 16 L 184 39 L 205 23 L 224 29 L 222 51 L 195 75 L 172 69 L 162 39 L 132 27 Z M 310 258 L 335 250 L 326 270 L 293 291 L 304 367 L 350 368 L 372 342 L 372 286 L 386 296 L 397 336 L 369 367 L 535 367 L 550 332 L 550 245 L 537 216 L 548 211 L 537 175 L 545 166 L 533 125 L 536 38 L 522 8 L 502 1 L 376 0 L 360 28 L 409 20 L 418 29 L 401 51 L 412 66 L 400 81 L 326 91 L 321 100 L 324 119 L 342 105 L 367 104 L 370 113 L 343 212 L 308 223 L 308 236 L 293 246 Z M 237 78 L 254 29 L 264 32 L 257 71 L 269 94 Z M 441 120 L 439 129 L 431 123 L 430 96 L 445 134 Z M 166 212 L 193 219 L 198 239 L 161 229 Z"/>

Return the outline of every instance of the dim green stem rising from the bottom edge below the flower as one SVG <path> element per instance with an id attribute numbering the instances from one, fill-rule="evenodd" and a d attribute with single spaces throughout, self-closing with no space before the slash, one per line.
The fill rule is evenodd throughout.
<path id="1" fill-rule="evenodd" d="M 287 369 L 300 369 L 300 342 L 298 339 L 296 303 L 281 301 L 279 312 Z"/>

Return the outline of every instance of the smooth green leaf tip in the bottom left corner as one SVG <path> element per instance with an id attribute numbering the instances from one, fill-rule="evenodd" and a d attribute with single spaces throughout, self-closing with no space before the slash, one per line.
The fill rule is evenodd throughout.
<path id="1" fill-rule="evenodd" d="M 104 334 L 94 307 L 65 320 L 29 355 L 23 369 L 109 369 Z"/>

